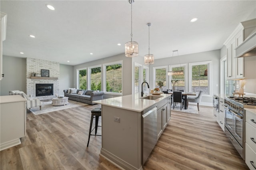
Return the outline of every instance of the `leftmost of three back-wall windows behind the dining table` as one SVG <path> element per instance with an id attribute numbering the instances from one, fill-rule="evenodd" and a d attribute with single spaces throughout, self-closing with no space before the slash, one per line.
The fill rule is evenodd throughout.
<path id="1" fill-rule="evenodd" d="M 153 67 L 154 69 L 154 87 L 159 87 L 157 84 L 158 81 L 163 81 L 164 86 L 162 87 L 163 91 L 166 91 L 166 70 L 167 66 L 165 67 Z"/>

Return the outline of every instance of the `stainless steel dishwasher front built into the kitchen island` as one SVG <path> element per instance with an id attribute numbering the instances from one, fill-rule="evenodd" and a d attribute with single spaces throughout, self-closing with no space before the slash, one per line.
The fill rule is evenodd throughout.
<path id="1" fill-rule="evenodd" d="M 142 165 L 148 159 L 157 142 L 156 105 L 142 111 Z"/>

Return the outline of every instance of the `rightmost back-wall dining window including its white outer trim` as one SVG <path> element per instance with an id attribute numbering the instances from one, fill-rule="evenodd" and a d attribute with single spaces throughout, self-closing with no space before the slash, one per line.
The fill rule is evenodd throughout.
<path id="1" fill-rule="evenodd" d="M 211 61 L 190 63 L 190 91 L 210 95 Z"/>

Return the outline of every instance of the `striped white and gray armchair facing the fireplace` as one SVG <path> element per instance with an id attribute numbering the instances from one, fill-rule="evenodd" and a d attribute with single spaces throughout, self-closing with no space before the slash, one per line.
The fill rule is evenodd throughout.
<path id="1" fill-rule="evenodd" d="M 40 110 L 42 109 L 42 102 L 40 101 L 40 99 L 28 97 L 26 93 L 24 93 L 23 91 L 19 91 L 19 90 L 9 91 L 9 95 L 21 95 L 22 97 L 24 97 L 24 99 L 27 100 L 26 101 L 27 109 L 31 109 L 32 107 L 37 107 L 37 106 L 40 107 Z"/>

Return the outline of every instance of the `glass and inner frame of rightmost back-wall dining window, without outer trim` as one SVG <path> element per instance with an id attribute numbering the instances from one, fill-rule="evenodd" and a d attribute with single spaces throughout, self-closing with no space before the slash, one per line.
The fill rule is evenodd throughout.
<path id="1" fill-rule="evenodd" d="M 191 90 L 193 92 L 203 91 L 204 94 L 209 92 L 208 64 L 191 65 Z"/>

